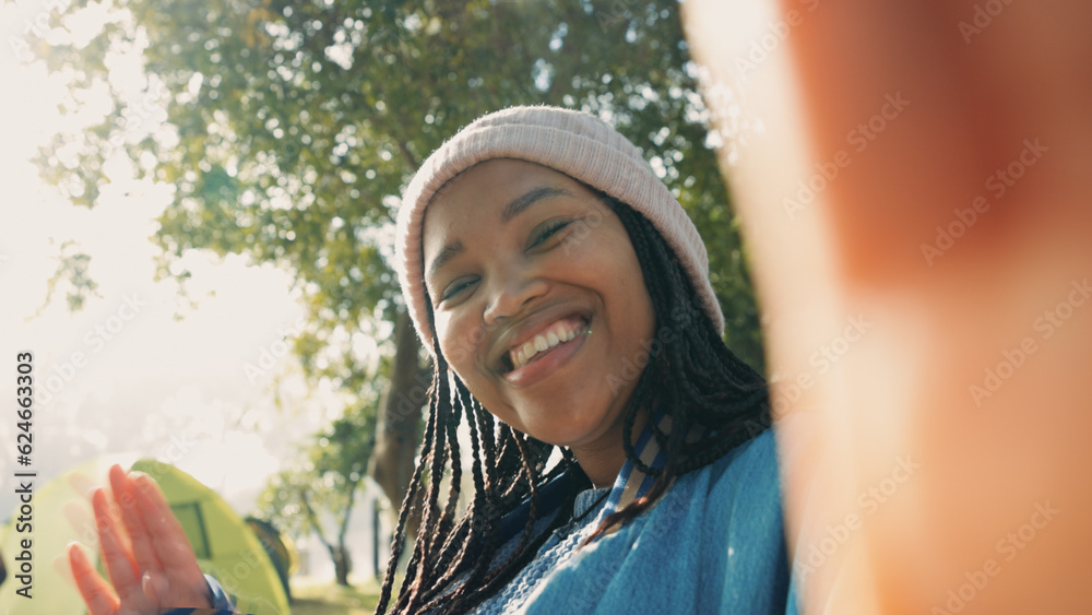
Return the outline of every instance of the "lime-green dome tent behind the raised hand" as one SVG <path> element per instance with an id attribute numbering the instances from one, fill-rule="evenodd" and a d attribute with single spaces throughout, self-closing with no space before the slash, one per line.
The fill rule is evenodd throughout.
<path id="1" fill-rule="evenodd" d="M 86 462 L 46 484 L 35 485 L 33 520 L 33 598 L 16 595 L 22 587 L 15 575 L 14 558 L 21 552 L 19 541 L 26 534 L 15 532 L 16 508 L 11 520 L 0 528 L 0 553 L 8 566 L 8 580 L 0 586 L 0 613 L 3 615 L 82 615 L 83 601 L 71 580 L 66 546 L 72 541 L 97 544 L 91 504 L 85 494 L 95 485 L 105 485 L 107 470 L 114 463 L 126 466 L 123 459 L 110 458 Z M 250 528 L 212 489 L 177 468 L 157 461 L 140 460 L 132 464 L 156 480 L 167 496 L 171 510 L 193 545 L 201 569 L 216 577 L 236 599 L 242 613 L 288 615 L 292 613 L 277 570 Z M 92 560 L 97 553 L 88 553 Z M 102 568 L 102 566 L 99 566 Z"/>

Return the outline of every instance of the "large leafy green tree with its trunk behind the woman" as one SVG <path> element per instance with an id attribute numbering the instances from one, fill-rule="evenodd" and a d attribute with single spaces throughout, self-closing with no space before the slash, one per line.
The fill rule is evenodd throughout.
<path id="1" fill-rule="evenodd" d="M 705 237 L 726 340 L 761 367 L 745 257 L 673 0 L 116 7 L 129 16 L 85 48 L 52 48 L 48 61 L 73 71 L 79 90 L 108 83 L 110 54 L 134 49 L 150 75 L 145 103 L 109 85 L 114 111 L 46 147 L 44 175 L 93 206 L 104 159 L 124 151 L 140 176 L 176 188 L 155 235 L 164 275 L 185 276 L 170 265 L 191 249 L 289 269 L 310 312 L 295 347 L 306 372 L 349 392 L 376 374 L 390 382 L 373 473 L 395 508 L 428 378 L 388 261 L 393 217 L 423 158 L 485 111 L 583 108 L 641 146 Z M 159 92 L 165 133 L 140 121 Z M 380 341 L 376 374 L 357 335 Z"/>

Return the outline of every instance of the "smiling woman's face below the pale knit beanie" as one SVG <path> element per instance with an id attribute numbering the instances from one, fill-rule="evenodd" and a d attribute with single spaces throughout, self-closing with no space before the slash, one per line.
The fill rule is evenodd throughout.
<path id="1" fill-rule="evenodd" d="M 655 318 L 614 212 L 567 175 L 498 158 L 436 194 L 423 244 L 440 352 L 474 397 L 546 442 L 620 446 Z"/>

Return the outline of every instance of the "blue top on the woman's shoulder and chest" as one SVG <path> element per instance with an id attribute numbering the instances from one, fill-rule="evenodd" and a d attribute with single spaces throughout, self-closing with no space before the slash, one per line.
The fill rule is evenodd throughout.
<path id="1" fill-rule="evenodd" d="M 619 502 L 632 471 L 627 462 L 609 493 L 579 494 L 573 516 L 587 515 L 555 531 L 535 558 L 474 613 L 796 614 L 772 430 L 679 476 L 652 509 L 578 549 L 606 515 L 633 498 L 626 494 Z M 643 478 L 644 488 L 651 483 L 637 478 Z M 210 581 L 215 607 L 230 608 Z"/>

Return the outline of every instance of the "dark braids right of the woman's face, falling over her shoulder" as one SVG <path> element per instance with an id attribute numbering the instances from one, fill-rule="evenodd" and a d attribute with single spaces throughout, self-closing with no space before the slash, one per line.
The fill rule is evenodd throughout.
<path id="1" fill-rule="evenodd" d="M 608 515 L 584 544 L 640 516 L 677 476 L 713 463 L 761 433 L 771 421 L 765 380 L 724 344 L 712 320 L 695 300 L 697 293 L 690 276 L 670 246 L 640 212 L 592 190 L 615 212 L 629 234 L 652 298 L 657 335 L 664 331 L 669 335 L 661 340 L 638 378 L 622 427 L 627 459 L 655 480 L 643 497 Z M 669 434 L 664 434 L 650 422 L 666 453 L 661 469 L 644 464 L 633 450 L 638 413 L 650 409 L 663 411 L 674 426 Z M 703 437 L 684 445 L 690 427 L 701 429 Z"/>

